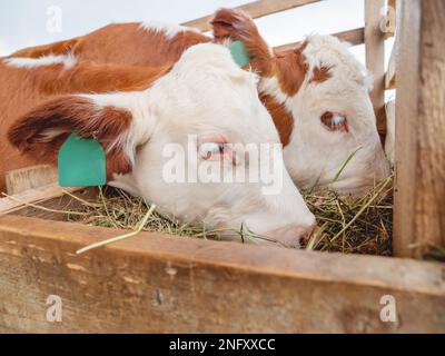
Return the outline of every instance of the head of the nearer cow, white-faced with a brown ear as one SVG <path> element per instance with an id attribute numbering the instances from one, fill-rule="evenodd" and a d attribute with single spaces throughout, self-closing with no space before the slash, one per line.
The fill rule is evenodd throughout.
<path id="1" fill-rule="evenodd" d="M 71 132 L 93 137 L 107 152 L 109 184 L 161 212 L 208 228 L 244 224 L 295 246 L 315 218 L 284 168 L 256 80 L 226 48 L 198 44 L 146 90 L 53 98 L 21 117 L 9 139 L 33 156 L 56 156 Z M 259 158 L 247 155 L 247 145 Z M 249 179 L 258 161 L 274 167 L 276 181 Z M 226 169 L 247 178 L 221 180 Z"/>

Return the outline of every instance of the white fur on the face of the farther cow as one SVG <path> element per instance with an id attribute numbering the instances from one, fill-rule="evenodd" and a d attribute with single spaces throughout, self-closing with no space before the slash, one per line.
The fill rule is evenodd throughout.
<path id="1" fill-rule="evenodd" d="M 280 90 L 276 78 L 261 79 L 259 85 L 260 91 L 285 103 L 294 117 L 290 142 L 284 151 L 286 167 L 299 188 L 329 186 L 339 192 L 360 194 L 389 174 L 368 95 L 373 78 L 337 38 L 310 36 L 307 42 L 308 71 L 294 97 Z M 312 82 L 316 67 L 330 68 L 330 78 Z M 327 130 L 320 121 L 326 111 L 345 116 L 349 132 Z M 354 151 L 339 180 L 333 182 Z"/>

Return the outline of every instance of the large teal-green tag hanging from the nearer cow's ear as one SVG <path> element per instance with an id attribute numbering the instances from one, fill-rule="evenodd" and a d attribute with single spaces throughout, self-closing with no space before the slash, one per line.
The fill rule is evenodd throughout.
<path id="1" fill-rule="evenodd" d="M 58 155 L 61 187 L 102 186 L 107 184 L 105 152 L 95 139 L 72 134 Z"/>

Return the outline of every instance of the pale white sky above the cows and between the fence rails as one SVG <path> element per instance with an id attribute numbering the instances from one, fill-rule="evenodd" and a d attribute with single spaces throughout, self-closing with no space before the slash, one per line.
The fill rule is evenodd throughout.
<path id="1" fill-rule="evenodd" d="M 68 39 L 109 22 L 149 19 L 185 22 L 251 0 L 1 0 L 0 56 L 28 46 Z M 48 8 L 59 7 L 61 32 L 49 32 Z M 295 42 L 306 34 L 333 33 L 364 26 L 363 0 L 325 0 L 256 20 L 269 44 Z M 387 43 L 390 46 L 390 43 Z M 390 48 L 390 47 L 389 47 Z M 364 62 L 364 46 L 352 48 Z M 389 51 L 387 51 L 389 53 Z"/>

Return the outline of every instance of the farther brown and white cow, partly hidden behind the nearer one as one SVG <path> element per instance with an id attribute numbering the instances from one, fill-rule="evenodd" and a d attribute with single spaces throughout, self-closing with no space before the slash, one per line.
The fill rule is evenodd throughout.
<path id="1" fill-rule="evenodd" d="M 251 57 L 248 68 L 260 77 L 260 99 L 278 129 L 287 169 L 299 188 L 360 195 L 389 175 L 369 99 L 372 77 L 345 43 L 332 36 L 310 36 L 294 49 L 274 50 L 240 10 L 220 9 L 211 24 L 214 39 L 158 21 L 115 23 L 12 57 L 70 52 L 81 60 L 164 66 L 197 43 L 241 40 Z"/>

